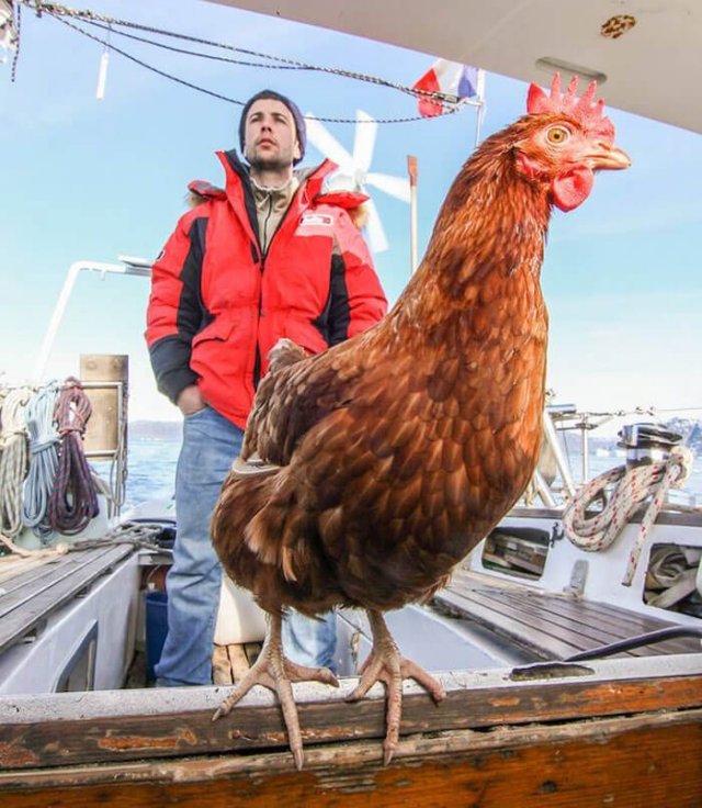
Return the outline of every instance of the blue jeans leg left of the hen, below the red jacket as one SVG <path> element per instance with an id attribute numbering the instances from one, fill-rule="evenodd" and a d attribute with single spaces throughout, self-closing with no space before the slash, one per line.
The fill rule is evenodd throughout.
<path id="1" fill-rule="evenodd" d="M 211 407 L 183 422 L 176 472 L 178 532 L 168 573 L 168 633 L 155 667 L 157 684 L 212 684 L 212 652 L 222 566 L 210 521 L 244 431 Z"/>

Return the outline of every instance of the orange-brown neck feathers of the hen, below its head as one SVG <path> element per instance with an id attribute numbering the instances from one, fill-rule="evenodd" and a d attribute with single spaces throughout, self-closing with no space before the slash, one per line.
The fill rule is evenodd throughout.
<path id="1" fill-rule="evenodd" d="M 529 123 L 521 119 L 492 135 L 463 166 L 390 319 L 408 317 L 426 328 L 465 311 L 486 283 L 537 292 L 551 204 L 548 188 L 516 166 L 516 144 Z"/>

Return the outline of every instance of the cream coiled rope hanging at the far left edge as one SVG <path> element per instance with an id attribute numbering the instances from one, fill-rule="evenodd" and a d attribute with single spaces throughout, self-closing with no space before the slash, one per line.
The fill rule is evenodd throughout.
<path id="1" fill-rule="evenodd" d="M 10 537 L 22 530 L 22 481 L 27 471 L 24 407 L 31 394 L 30 388 L 10 390 L 0 411 L 0 531 Z"/>

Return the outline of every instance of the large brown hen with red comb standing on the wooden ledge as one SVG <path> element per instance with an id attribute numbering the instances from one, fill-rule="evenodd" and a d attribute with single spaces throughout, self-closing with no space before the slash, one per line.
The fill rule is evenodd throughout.
<path id="1" fill-rule="evenodd" d="M 387 687 L 385 762 L 401 681 L 441 685 L 400 656 L 382 616 L 426 601 L 509 510 L 539 459 L 547 314 L 539 274 L 552 205 L 571 210 L 593 171 L 626 168 L 614 130 L 571 82 L 532 86 L 529 114 L 465 164 L 419 270 L 387 317 L 325 354 L 274 349 L 224 483 L 213 540 L 270 615 L 267 642 L 216 716 L 253 684 L 276 689 L 298 767 L 291 682 L 336 684 L 282 653 L 281 616 L 367 610 L 374 643 L 350 698 Z"/>

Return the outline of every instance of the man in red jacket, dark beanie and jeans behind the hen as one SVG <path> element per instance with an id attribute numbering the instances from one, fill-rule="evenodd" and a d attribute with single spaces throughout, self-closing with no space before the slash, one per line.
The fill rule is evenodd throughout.
<path id="1" fill-rule="evenodd" d="M 154 263 L 146 338 L 159 390 L 182 412 L 176 478 L 178 536 L 168 575 L 161 685 L 210 684 L 222 568 L 210 519 L 239 454 L 268 354 L 288 337 L 309 354 L 376 323 L 387 303 L 348 209 L 365 199 L 326 193 L 336 166 L 294 170 L 305 121 L 271 90 L 244 106 L 236 152 L 218 153 L 226 189 L 191 183 L 183 215 Z M 292 614 L 286 654 L 333 664 L 333 616 Z"/>

